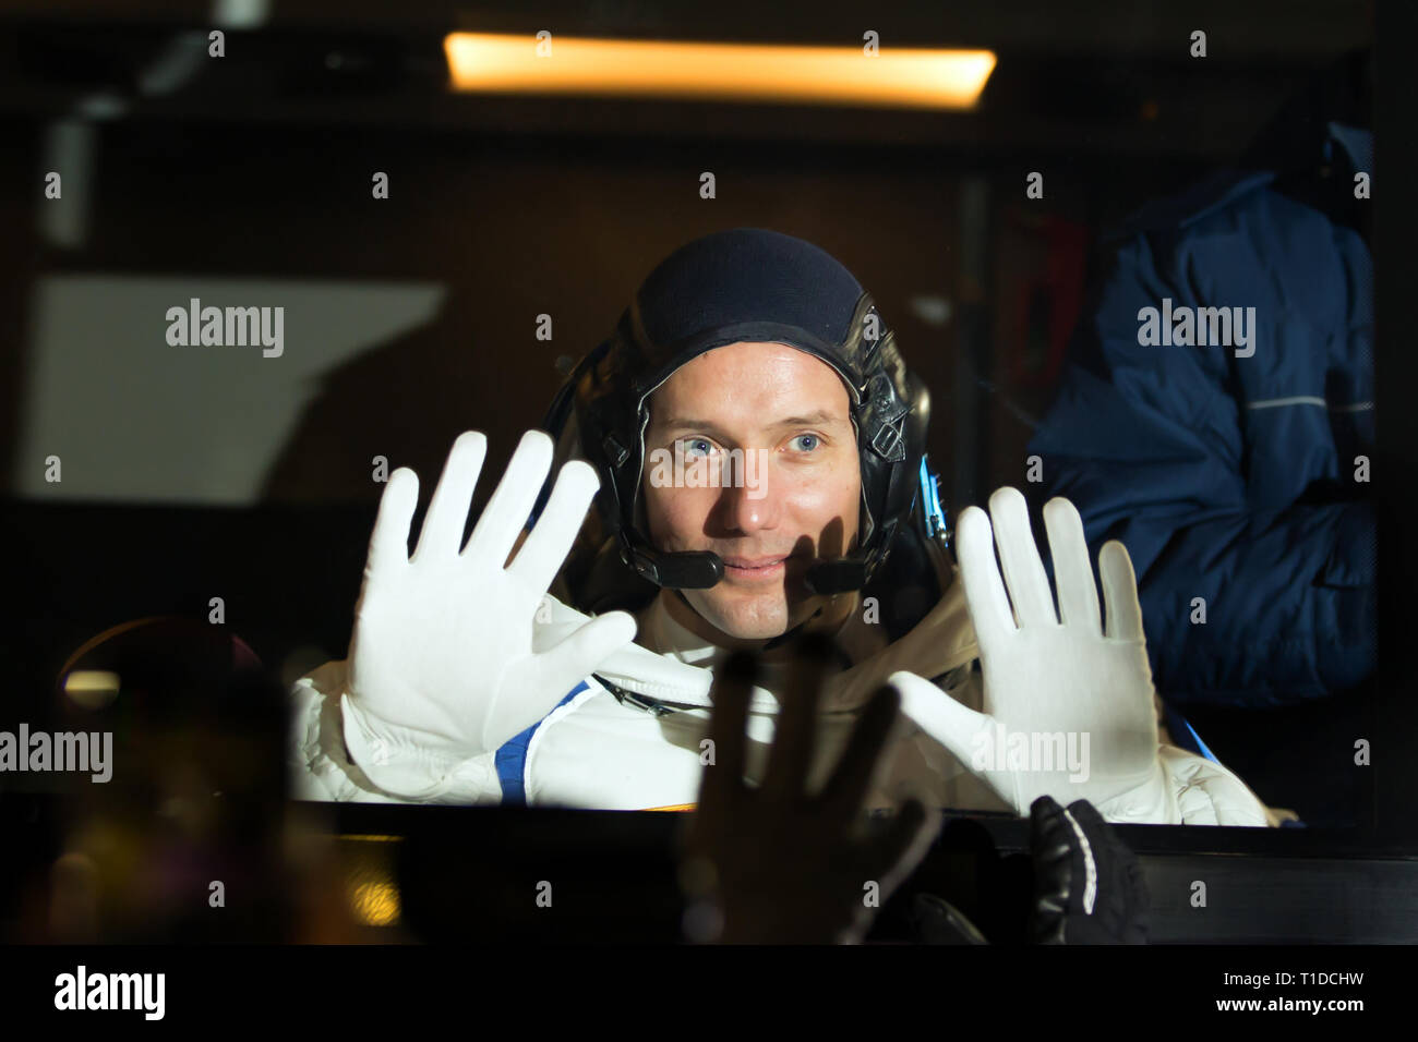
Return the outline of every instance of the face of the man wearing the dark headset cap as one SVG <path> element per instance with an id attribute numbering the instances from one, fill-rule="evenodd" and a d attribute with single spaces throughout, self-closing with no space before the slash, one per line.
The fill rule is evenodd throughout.
<path id="1" fill-rule="evenodd" d="M 686 475 L 699 459 L 700 474 L 743 481 L 666 482 L 669 468 L 649 465 L 657 451 L 661 459 L 678 452 Z M 718 586 L 683 591 L 718 635 L 778 637 L 827 603 L 808 593 L 804 576 L 814 559 L 852 546 L 862 502 L 851 401 L 827 363 L 780 343 L 700 354 L 651 396 L 645 458 L 651 543 L 712 550 L 725 561 Z M 726 461 L 736 465 L 720 469 Z"/>

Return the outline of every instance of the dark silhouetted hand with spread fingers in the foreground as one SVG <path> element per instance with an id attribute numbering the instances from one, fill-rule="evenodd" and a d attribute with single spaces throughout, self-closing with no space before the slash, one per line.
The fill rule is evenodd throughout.
<path id="1" fill-rule="evenodd" d="M 679 841 L 689 940 L 858 941 L 873 909 L 885 904 L 939 834 L 939 815 L 927 815 L 917 801 L 906 801 L 886 822 L 869 822 L 862 812 L 898 719 L 898 696 L 889 688 L 866 705 L 821 791 L 807 790 L 830 659 L 831 646 L 818 638 L 800 644 L 757 788 L 743 780 L 754 659 L 739 652 L 716 673 L 709 723 L 715 758 L 705 767 L 699 805 Z"/>

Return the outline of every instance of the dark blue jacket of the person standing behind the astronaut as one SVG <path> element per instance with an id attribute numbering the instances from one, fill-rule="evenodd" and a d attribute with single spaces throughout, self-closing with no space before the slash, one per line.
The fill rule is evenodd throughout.
<path id="1" fill-rule="evenodd" d="M 1373 172 L 1367 132 L 1329 132 L 1334 176 Z M 1373 261 L 1275 180 L 1224 174 L 1132 218 L 1029 445 L 1095 553 L 1127 546 L 1174 703 L 1293 703 L 1375 663 L 1374 516 L 1356 479 L 1374 437 Z M 1143 309 L 1164 301 L 1254 308 L 1254 339 L 1140 343 Z"/>

